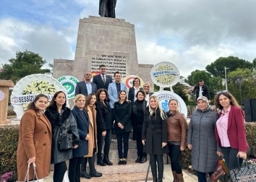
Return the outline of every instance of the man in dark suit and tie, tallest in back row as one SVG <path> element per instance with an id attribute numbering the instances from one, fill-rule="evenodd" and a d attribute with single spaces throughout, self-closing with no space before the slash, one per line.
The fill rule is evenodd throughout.
<path id="1" fill-rule="evenodd" d="M 101 64 L 100 72 L 101 74 L 93 77 L 93 83 L 97 85 L 97 90 L 101 88 L 108 90 L 108 84 L 113 81 L 111 76 L 106 75 L 106 66 L 104 64 Z"/>

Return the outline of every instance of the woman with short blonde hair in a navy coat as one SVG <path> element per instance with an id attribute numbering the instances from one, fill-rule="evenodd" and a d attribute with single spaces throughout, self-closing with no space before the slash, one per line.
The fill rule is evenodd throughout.
<path id="1" fill-rule="evenodd" d="M 71 110 L 82 141 L 82 146 L 73 149 L 73 158 L 69 160 L 69 181 L 80 182 L 80 165 L 84 155 L 88 155 L 89 117 L 85 107 L 85 95 L 78 94 L 74 97 L 74 107 Z"/>

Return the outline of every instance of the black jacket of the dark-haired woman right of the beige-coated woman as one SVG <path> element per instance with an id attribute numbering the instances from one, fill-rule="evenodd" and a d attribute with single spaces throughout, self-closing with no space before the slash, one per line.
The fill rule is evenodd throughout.
<path id="1" fill-rule="evenodd" d="M 101 101 L 97 101 L 96 105 L 96 122 L 98 132 L 106 131 L 112 128 L 112 118 L 111 118 L 111 107 L 108 102 L 105 101 L 103 104 Z"/>

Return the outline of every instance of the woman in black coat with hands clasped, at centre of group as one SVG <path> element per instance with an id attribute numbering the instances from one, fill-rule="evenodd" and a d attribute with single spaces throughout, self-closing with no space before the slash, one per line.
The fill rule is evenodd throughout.
<path id="1" fill-rule="evenodd" d="M 127 100 L 127 92 L 119 92 L 119 100 L 114 103 L 114 128 L 116 131 L 117 149 L 119 154 L 118 165 L 127 164 L 129 148 L 129 133 L 132 131 L 132 103 Z M 124 141 L 124 153 L 122 152 L 122 142 Z"/>

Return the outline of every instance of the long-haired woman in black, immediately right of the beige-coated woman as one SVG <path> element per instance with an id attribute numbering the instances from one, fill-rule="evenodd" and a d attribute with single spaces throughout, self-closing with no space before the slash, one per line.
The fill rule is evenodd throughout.
<path id="1" fill-rule="evenodd" d="M 112 119 L 111 119 L 111 107 L 108 104 L 108 91 L 106 89 L 99 89 L 96 92 L 96 97 L 98 101 L 96 105 L 96 122 L 97 122 L 97 144 L 98 144 L 98 153 L 97 153 L 97 164 L 101 166 L 113 165 L 112 162 L 108 159 L 108 153 L 111 144 L 111 129 L 112 129 Z M 102 160 L 101 151 L 103 142 L 104 145 L 104 157 Z"/>

